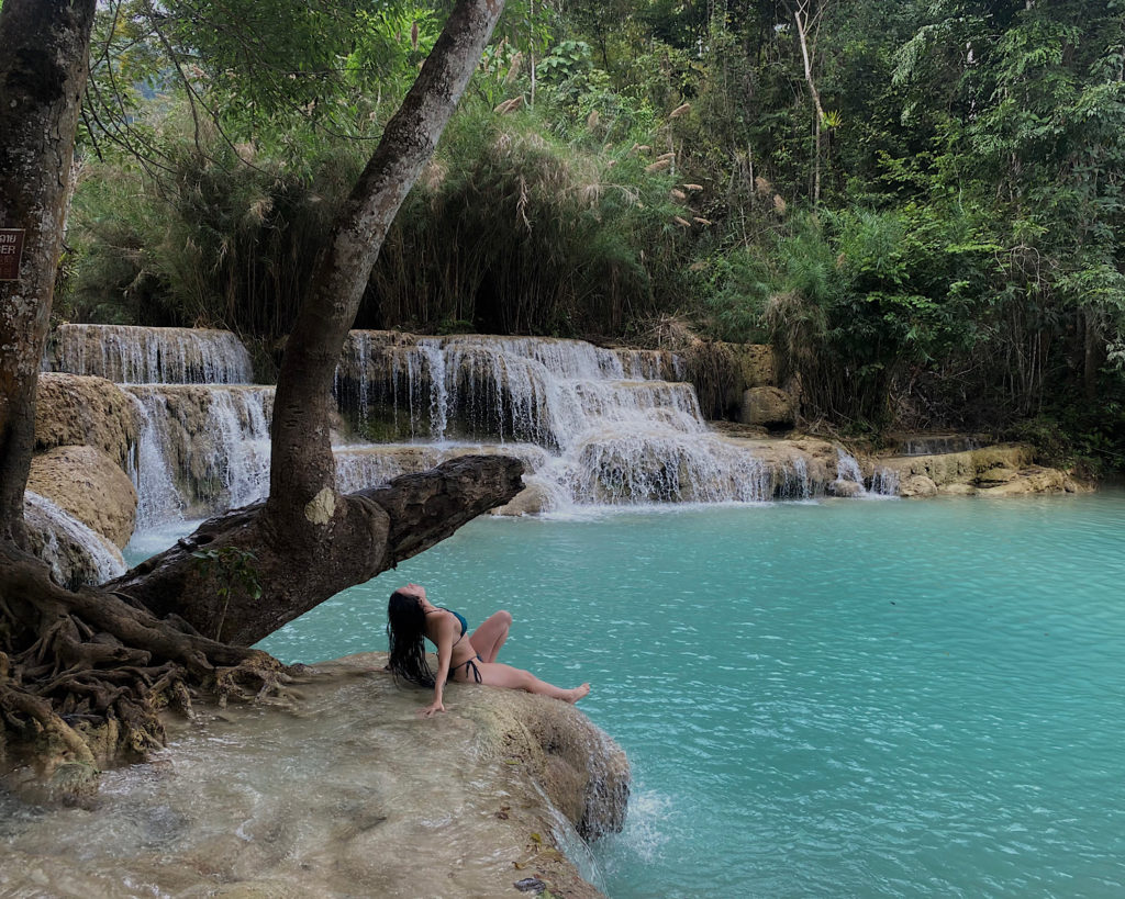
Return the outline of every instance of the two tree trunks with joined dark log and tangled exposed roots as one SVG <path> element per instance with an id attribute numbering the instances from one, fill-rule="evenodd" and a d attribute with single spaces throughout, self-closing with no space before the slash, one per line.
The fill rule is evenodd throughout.
<path id="1" fill-rule="evenodd" d="M 94 6 L 4 0 L 0 16 L 0 163 L 17 172 L 0 169 L 0 199 L 29 251 L 27 278 L 0 293 L 0 757 L 14 736 L 88 770 L 159 743 L 158 708 L 187 708 L 190 689 L 280 689 L 286 670 L 246 645 L 507 501 L 522 472 L 478 456 L 342 496 L 328 442 L 332 378 L 371 266 L 503 9 L 459 0 L 317 261 L 278 380 L 269 499 L 101 589 L 51 583 L 24 551 L 21 501 Z"/>

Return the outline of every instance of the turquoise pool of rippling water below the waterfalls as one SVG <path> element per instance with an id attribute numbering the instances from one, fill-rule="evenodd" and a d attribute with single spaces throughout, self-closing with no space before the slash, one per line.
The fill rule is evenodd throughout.
<path id="1" fill-rule="evenodd" d="M 485 519 L 262 645 L 384 650 L 410 580 L 593 684 L 612 899 L 1125 891 L 1120 493 Z"/>

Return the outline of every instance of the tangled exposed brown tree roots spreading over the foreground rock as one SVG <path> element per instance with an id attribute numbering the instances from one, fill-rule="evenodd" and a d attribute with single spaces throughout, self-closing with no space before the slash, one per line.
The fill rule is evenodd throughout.
<path id="1" fill-rule="evenodd" d="M 79 793 L 99 765 L 162 746 L 163 709 L 285 698 L 289 672 L 112 593 L 66 591 L 0 544 L 0 753 L 33 764 L 56 792 Z"/>

